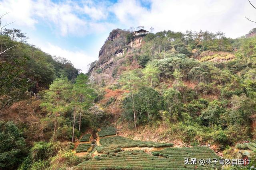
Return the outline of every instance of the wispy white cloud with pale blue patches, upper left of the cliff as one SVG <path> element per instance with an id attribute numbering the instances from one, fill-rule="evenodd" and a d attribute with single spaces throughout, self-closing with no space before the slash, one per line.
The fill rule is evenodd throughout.
<path id="1" fill-rule="evenodd" d="M 107 18 L 106 8 L 104 3 L 90 1 L 79 6 L 77 2 L 68 0 L 56 3 L 50 0 L 0 0 L 0 12 L 9 12 L 6 17 L 8 22 L 16 21 L 17 25 L 34 28 L 36 23 L 44 21 L 57 35 L 62 36 L 84 36 L 105 31 L 109 24 L 98 20 Z"/>

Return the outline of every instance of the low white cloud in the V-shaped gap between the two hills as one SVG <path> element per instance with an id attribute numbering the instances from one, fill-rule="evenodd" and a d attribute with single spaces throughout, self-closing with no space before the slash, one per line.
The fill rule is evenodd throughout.
<path id="1" fill-rule="evenodd" d="M 51 43 L 40 45 L 40 49 L 52 56 L 55 55 L 70 60 L 75 68 L 81 69 L 84 73 L 88 70 L 88 64 L 95 61 L 95 57 L 87 55 L 86 51 L 69 51 Z"/>

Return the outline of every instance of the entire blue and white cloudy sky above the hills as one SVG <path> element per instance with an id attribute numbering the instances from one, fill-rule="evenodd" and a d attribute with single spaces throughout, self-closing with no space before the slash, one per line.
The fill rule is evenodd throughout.
<path id="1" fill-rule="evenodd" d="M 256 6 L 256 0 L 251 0 Z M 65 57 L 86 72 L 115 28 L 144 25 L 154 32 L 222 31 L 240 37 L 256 27 L 247 0 L 0 0 L 4 23 L 27 33 L 28 43 Z"/>

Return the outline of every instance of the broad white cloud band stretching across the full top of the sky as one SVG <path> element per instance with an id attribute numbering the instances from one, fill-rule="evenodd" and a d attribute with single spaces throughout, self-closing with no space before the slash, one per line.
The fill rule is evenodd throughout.
<path id="1" fill-rule="evenodd" d="M 150 3 L 150 9 L 143 4 Z M 98 31 L 110 31 L 113 25 L 123 28 L 144 25 L 155 31 L 209 30 L 223 31 L 227 36 L 244 35 L 255 23 L 256 10 L 249 2 L 241 0 L 0 0 L 0 11 L 10 12 L 8 21 L 18 25 L 34 27 L 41 20 L 49 24 L 56 33 L 83 36 Z M 110 14 L 116 16 L 111 20 Z"/>

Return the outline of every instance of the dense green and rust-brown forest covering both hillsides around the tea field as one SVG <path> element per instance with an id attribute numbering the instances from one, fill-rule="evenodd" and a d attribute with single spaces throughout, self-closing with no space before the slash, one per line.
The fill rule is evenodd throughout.
<path id="1" fill-rule="evenodd" d="M 139 37 L 132 47 L 133 31 L 113 30 L 102 47 L 110 53 L 83 74 L 28 44 L 20 29 L 1 26 L 0 169 L 74 167 L 92 159 L 74 151 L 78 139 L 109 125 L 115 129 L 104 133 L 208 145 L 224 158 L 254 143 L 256 37 L 170 30 Z"/>

